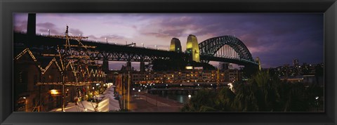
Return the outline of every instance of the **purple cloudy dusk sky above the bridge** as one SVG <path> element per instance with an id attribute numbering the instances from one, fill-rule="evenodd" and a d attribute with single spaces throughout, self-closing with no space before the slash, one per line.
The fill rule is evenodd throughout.
<path id="1" fill-rule="evenodd" d="M 16 13 L 14 30 L 26 32 L 27 13 Z M 323 13 L 41 13 L 37 14 L 37 33 L 62 35 L 66 25 L 70 35 L 94 41 L 128 44 L 168 50 L 171 39 L 180 39 L 183 51 L 187 36 L 198 42 L 211 37 L 233 35 L 244 42 L 263 68 L 300 63 L 323 62 Z M 114 62 L 119 69 L 125 62 Z M 136 69 L 139 65 L 134 63 Z M 211 62 L 218 66 L 218 62 Z"/>

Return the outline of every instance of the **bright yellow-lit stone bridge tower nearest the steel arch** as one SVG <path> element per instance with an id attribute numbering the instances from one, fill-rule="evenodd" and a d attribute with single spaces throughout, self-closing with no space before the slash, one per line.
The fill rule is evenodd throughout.
<path id="1" fill-rule="evenodd" d="M 186 53 L 191 53 L 192 60 L 194 60 L 195 62 L 200 62 L 198 40 L 197 40 L 197 37 L 195 37 L 192 34 L 190 34 L 187 37 Z"/>

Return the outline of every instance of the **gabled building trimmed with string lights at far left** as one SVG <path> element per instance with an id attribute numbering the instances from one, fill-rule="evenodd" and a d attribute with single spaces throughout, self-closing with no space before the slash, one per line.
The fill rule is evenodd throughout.
<path id="1" fill-rule="evenodd" d="M 53 96 L 51 90 L 60 91 L 62 74 L 60 62 L 54 57 L 41 55 L 39 48 L 15 50 L 13 60 L 13 103 L 17 112 L 46 112 L 62 105 L 62 96 Z M 72 63 L 68 63 L 65 70 L 65 102 L 71 102 L 82 86 L 90 86 L 105 80 L 105 73 L 98 66 L 89 65 L 75 69 Z M 76 72 L 75 72 L 76 71 Z M 84 94 L 82 92 L 82 94 Z"/>

